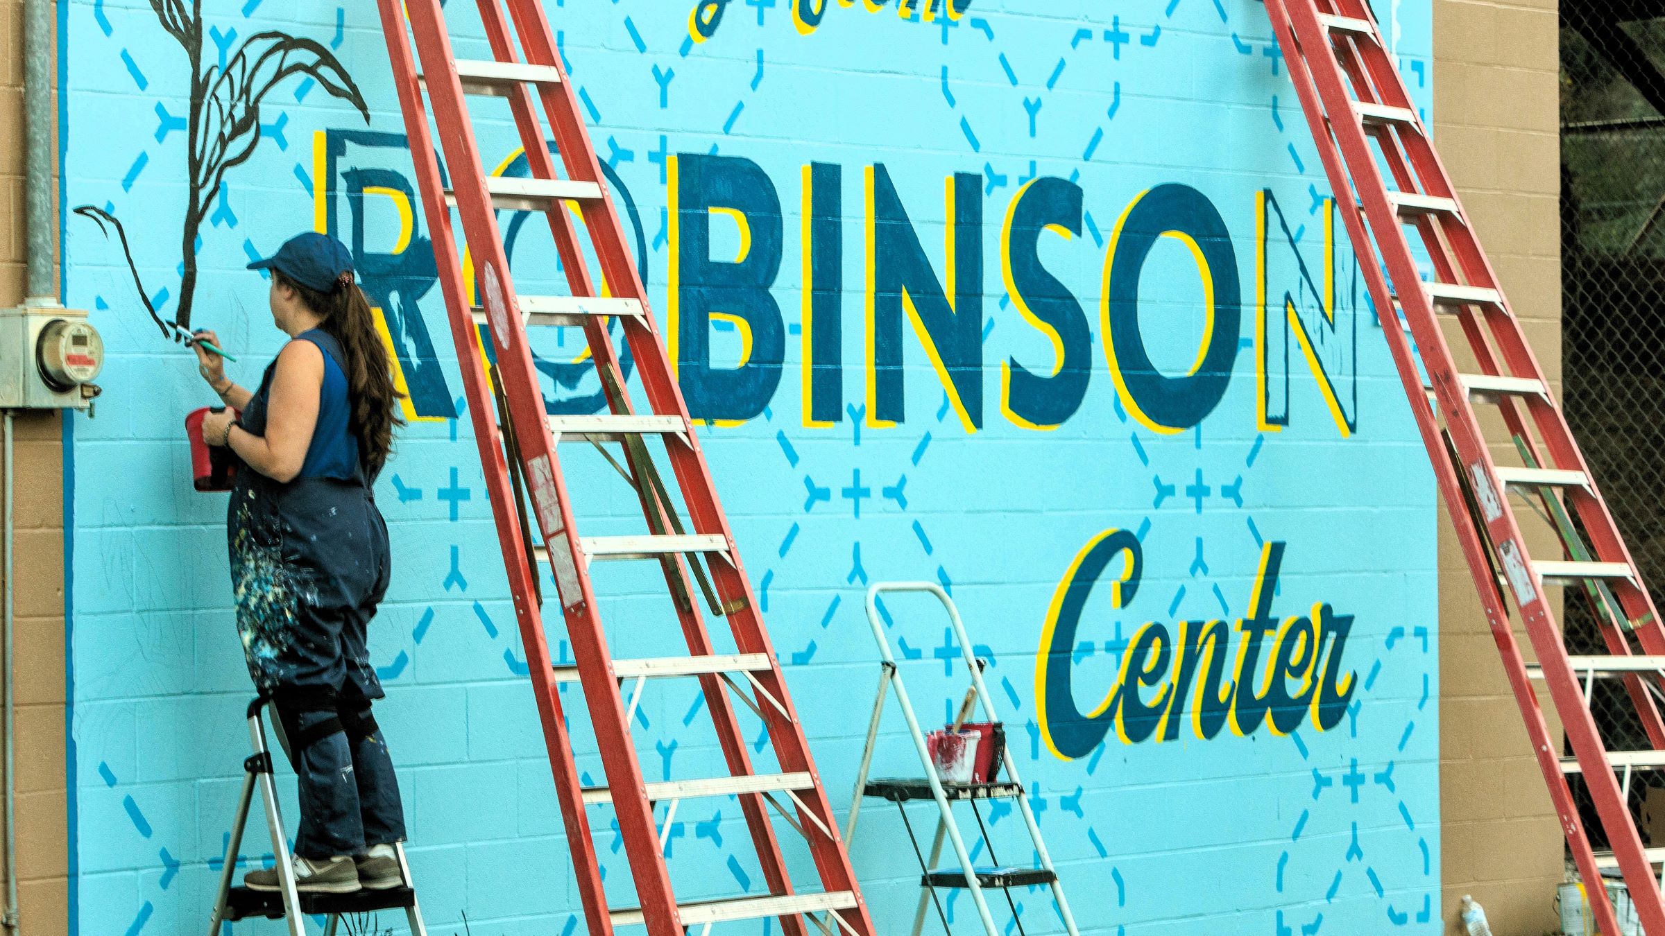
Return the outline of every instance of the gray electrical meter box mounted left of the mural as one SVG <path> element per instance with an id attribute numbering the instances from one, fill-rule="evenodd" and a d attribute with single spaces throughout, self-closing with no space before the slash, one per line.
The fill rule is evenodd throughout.
<path id="1" fill-rule="evenodd" d="M 87 311 L 0 308 L 0 410 L 87 410 L 103 370 L 103 338 Z"/>

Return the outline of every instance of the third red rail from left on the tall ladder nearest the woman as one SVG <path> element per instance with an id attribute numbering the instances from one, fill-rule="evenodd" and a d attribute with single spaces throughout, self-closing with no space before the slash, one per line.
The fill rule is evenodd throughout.
<path id="1" fill-rule="evenodd" d="M 509 23 L 503 17 L 503 8 L 498 0 L 478 0 L 481 23 L 485 25 L 486 38 L 491 45 L 491 53 L 498 62 L 514 62 L 514 43 L 509 33 Z M 539 17 L 539 22 L 543 18 Z M 536 52 L 536 47 L 531 47 Z M 533 65 L 558 65 L 558 57 L 548 60 L 539 60 L 538 55 L 526 58 Z M 564 85 L 564 70 L 563 70 Z M 539 87 L 539 95 L 551 95 L 543 100 L 544 110 L 553 112 L 563 105 L 576 107 L 576 102 L 566 102 L 559 90 L 549 85 Z M 543 128 L 538 123 L 536 112 L 533 110 L 533 92 L 526 85 L 514 85 L 509 90 L 509 108 L 514 115 L 514 125 L 521 137 L 521 147 L 526 153 L 528 167 L 534 178 L 558 178 L 556 167 L 549 157 L 548 145 L 543 138 Z M 588 138 L 588 137 L 586 137 Z M 596 177 L 588 182 L 604 183 L 599 175 L 599 167 Z M 589 273 L 589 266 L 578 246 L 578 233 L 573 227 L 571 215 L 564 207 L 556 205 L 549 212 L 544 212 L 549 220 L 549 233 L 554 236 L 554 243 L 561 258 L 561 268 L 566 273 L 568 290 L 574 296 L 596 296 L 601 291 L 596 290 L 594 281 Z M 609 290 L 613 295 L 626 295 L 616 290 Z M 611 336 L 604 320 L 591 316 L 584 320 L 584 338 L 591 350 L 591 358 L 599 371 L 603 388 L 616 388 L 606 393 L 608 405 L 614 415 L 629 415 L 633 406 L 629 396 L 624 391 L 624 373 L 619 365 L 618 351 L 613 346 Z M 666 445 L 678 445 L 674 436 L 666 438 Z M 651 515 L 653 520 L 659 523 L 661 530 L 669 528 L 669 510 L 671 505 L 663 505 L 656 496 L 646 490 L 644 471 L 651 466 L 638 465 L 634 456 L 634 448 L 626 445 L 624 456 L 636 478 L 636 493 L 641 501 L 644 515 Z M 659 560 L 659 565 L 666 576 L 666 586 L 676 595 L 694 595 L 694 583 L 689 580 L 684 560 L 681 556 L 668 555 Z M 678 605 L 678 621 L 683 628 L 683 636 L 688 641 L 689 653 L 696 656 L 711 656 L 716 648 L 706 633 L 704 620 L 699 616 L 699 610 L 689 601 L 688 606 Z M 591 691 L 613 691 L 616 681 L 611 675 L 604 676 L 606 686 L 584 686 L 584 693 Z M 601 686 L 598 683 L 598 686 Z M 699 676 L 701 695 L 706 700 L 706 706 L 711 711 L 713 721 L 716 724 L 718 743 L 723 749 L 724 761 L 729 773 L 734 776 L 753 774 L 751 754 L 746 749 L 746 741 L 741 733 L 739 718 L 734 711 L 734 703 L 728 696 L 728 688 L 723 680 L 716 675 Z M 759 700 L 761 701 L 761 700 Z M 753 846 L 758 853 L 758 861 L 763 869 L 764 884 L 768 884 L 773 894 L 791 894 L 793 884 L 786 873 L 786 858 L 781 853 L 779 839 L 774 834 L 774 824 L 769 821 L 768 806 L 763 801 L 761 793 L 739 794 L 741 813 L 746 818 L 746 828 L 751 833 Z M 799 916 L 781 916 L 778 918 L 783 933 L 786 936 L 806 936 L 804 924 Z"/>

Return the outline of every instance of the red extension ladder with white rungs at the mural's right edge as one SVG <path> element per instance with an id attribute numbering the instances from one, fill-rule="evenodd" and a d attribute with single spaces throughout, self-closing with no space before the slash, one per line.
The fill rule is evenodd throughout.
<path id="1" fill-rule="evenodd" d="M 1607 889 L 1598 884 L 1600 871 L 1617 866 L 1643 929 L 1665 936 L 1665 903 L 1653 873 L 1665 863 L 1665 848 L 1643 848 L 1628 803 L 1633 773 L 1665 769 L 1658 708 L 1665 630 L 1653 600 L 1469 227 L 1367 0 L 1267 0 L 1265 7 L 1324 170 L 1342 202 L 1370 300 L 1377 310 L 1404 316 L 1392 323 L 1382 315 L 1384 333 L 1562 829 L 1590 884 L 1597 924 L 1603 933 L 1620 931 Z M 1349 192 L 1357 203 L 1345 198 Z M 1407 228 L 1427 248 L 1432 281 L 1417 275 Z M 1380 265 L 1372 261 L 1377 255 Z M 1397 295 L 1389 281 L 1399 286 Z M 1477 365 L 1474 373 L 1457 370 L 1439 316 L 1454 316 L 1460 325 Z M 1500 410 L 1513 438 L 1512 456 L 1502 460 L 1507 463 L 1487 446 L 1475 403 Z M 1532 558 L 1510 495 L 1543 511 L 1560 556 Z M 1545 585 L 1572 586 L 1592 603 L 1607 655 L 1568 656 Z M 1525 623 L 1537 663 L 1522 660 L 1507 601 Z M 1535 678 L 1548 686 L 1570 758 L 1560 756 L 1543 721 Z M 1623 681 L 1650 749 L 1608 749 L 1590 714 L 1595 680 Z M 1612 853 L 1592 849 L 1573 799 L 1575 783 L 1587 788 Z"/>

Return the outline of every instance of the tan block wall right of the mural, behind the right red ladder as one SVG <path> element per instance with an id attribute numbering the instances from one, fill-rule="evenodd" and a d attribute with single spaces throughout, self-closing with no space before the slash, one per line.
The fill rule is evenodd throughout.
<path id="1" fill-rule="evenodd" d="M 1557 0 L 1435 0 L 1437 147 L 1557 395 L 1558 75 Z M 1497 420 L 1487 428 L 1490 438 L 1507 438 Z M 1518 630 L 1517 638 L 1525 643 Z M 1440 761 L 1447 921 L 1455 923 L 1459 899 L 1472 893 L 1497 933 L 1557 931 L 1560 828 L 1469 566 L 1444 520 Z"/>

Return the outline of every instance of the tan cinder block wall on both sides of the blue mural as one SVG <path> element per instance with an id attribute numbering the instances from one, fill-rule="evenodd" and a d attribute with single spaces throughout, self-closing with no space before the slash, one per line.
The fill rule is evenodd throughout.
<path id="1" fill-rule="evenodd" d="M 1552 375 L 1560 360 L 1553 0 L 1435 3 L 1440 152 Z M 23 291 L 22 3 L 0 0 L 0 303 Z M 65 921 L 62 450 L 17 423 L 18 836 L 32 933 Z M 1555 926 L 1560 834 L 1449 528 L 1440 545 L 1445 906 L 1474 893 L 1508 933 Z"/>

